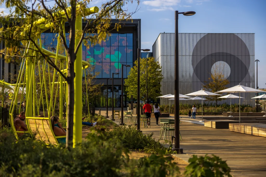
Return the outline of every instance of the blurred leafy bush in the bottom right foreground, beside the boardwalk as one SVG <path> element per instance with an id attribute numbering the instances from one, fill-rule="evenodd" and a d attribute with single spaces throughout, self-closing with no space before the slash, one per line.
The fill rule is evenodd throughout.
<path id="1" fill-rule="evenodd" d="M 231 169 L 227 166 L 226 161 L 221 158 L 214 156 L 209 157 L 207 154 L 205 157 L 197 157 L 193 155 L 189 160 L 189 165 L 186 167 L 184 175 L 194 177 L 194 176 L 228 176 L 231 177 Z"/>

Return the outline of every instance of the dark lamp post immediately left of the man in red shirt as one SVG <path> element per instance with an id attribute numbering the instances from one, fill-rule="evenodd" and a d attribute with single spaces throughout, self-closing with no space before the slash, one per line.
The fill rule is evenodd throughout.
<path id="1" fill-rule="evenodd" d="M 139 49 L 138 48 L 138 93 L 137 93 L 137 129 L 140 130 L 140 50 L 144 52 L 150 51 L 150 49 Z"/>

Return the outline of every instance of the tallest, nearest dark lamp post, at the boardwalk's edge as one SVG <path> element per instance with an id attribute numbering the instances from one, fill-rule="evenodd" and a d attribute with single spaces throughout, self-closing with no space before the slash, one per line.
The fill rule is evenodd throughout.
<path id="1" fill-rule="evenodd" d="M 196 14 L 194 11 L 188 12 L 178 12 L 174 11 L 174 20 L 175 20 L 175 31 L 174 31 L 174 147 L 172 151 L 177 151 L 178 154 L 183 153 L 183 149 L 180 148 L 179 140 L 179 87 L 178 87 L 178 14 L 183 14 L 185 16 L 190 16 Z"/>

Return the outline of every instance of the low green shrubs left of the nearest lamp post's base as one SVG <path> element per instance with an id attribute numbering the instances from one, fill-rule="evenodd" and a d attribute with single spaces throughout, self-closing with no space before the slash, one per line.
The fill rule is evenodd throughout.
<path id="1" fill-rule="evenodd" d="M 135 127 L 119 126 L 107 132 L 107 138 L 116 137 L 120 139 L 125 148 L 139 149 L 148 154 L 157 154 L 158 149 L 163 150 L 166 155 L 173 153 L 168 151 L 159 140 L 152 138 L 153 133 L 143 135 Z"/>

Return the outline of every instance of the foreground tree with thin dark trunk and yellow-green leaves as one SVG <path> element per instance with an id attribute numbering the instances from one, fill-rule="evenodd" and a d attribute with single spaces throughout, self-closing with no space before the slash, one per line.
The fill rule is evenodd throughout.
<path id="1" fill-rule="evenodd" d="M 67 112 L 67 134 L 66 146 L 73 145 L 73 113 L 74 113 L 74 62 L 81 47 L 82 42 L 89 48 L 90 44 L 101 44 L 102 40 L 106 40 L 110 36 L 110 31 L 121 28 L 120 21 L 115 27 L 110 26 L 111 19 L 130 20 L 131 15 L 135 12 L 128 12 L 128 3 L 134 1 L 139 4 L 139 0 L 110 0 L 102 4 L 100 10 L 95 14 L 90 14 L 88 8 L 93 7 L 92 1 L 81 0 L 0 0 L 0 5 L 5 5 L 9 9 L 8 15 L 0 16 L 0 40 L 5 42 L 5 49 L 1 51 L 4 54 L 6 62 L 27 57 L 32 62 L 47 61 L 52 67 L 58 71 L 67 82 L 68 87 L 68 112 Z M 90 15 L 88 15 L 90 14 Z M 82 16 L 82 20 L 86 22 L 82 30 L 76 29 L 76 18 Z M 41 19 L 41 20 L 39 20 Z M 64 46 L 66 56 L 68 58 L 68 70 L 66 75 L 60 71 L 57 63 L 44 53 L 42 46 L 38 45 L 40 36 L 39 25 L 35 21 L 44 22 L 45 27 L 49 27 L 53 33 L 58 33 L 60 40 Z M 64 22 L 69 25 L 69 45 L 64 37 Z M 43 26 L 44 27 L 44 26 Z M 85 35 L 86 33 L 94 34 L 94 36 Z M 30 41 L 31 45 L 26 45 Z M 75 45 L 76 42 L 76 45 Z M 21 45 L 23 44 L 23 45 Z M 34 56 L 23 56 L 23 51 L 29 50 L 35 52 Z"/>

